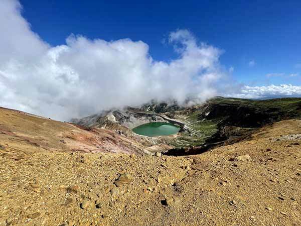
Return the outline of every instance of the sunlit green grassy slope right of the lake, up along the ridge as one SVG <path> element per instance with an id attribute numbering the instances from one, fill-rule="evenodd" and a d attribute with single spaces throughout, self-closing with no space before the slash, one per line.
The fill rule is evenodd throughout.
<path id="1" fill-rule="evenodd" d="M 248 107 L 254 110 L 267 110 L 274 118 L 273 121 L 282 119 L 299 119 L 301 118 L 301 98 L 276 98 L 268 100 L 251 100 L 241 98 L 224 98 L 216 97 L 208 101 L 209 104 L 230 104 L 234 107 Z M 204 144 L 205 140 L 212 136 L 218 129 L 218 124 L 225 117 L 215 118 L 212 120 L 200 117 L 203 106 L 194 106 L 194 109 L 187 113 L 180 111 L 176 118 L 183 120 L 190 128 L 191 133 L 181 133 L 179 137 L 172 141 L 176 147 L 189 147 Z M 182 113 L 181 113 L 182 112 Z"/>

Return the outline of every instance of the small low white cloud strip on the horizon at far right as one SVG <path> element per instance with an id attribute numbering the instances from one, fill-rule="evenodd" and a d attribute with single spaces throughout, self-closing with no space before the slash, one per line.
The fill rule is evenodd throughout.
<path id="1" fill-rule="evenodd" d="M 281 97 L 281 96 L 301 96 L 301 86 L 295 85 L 268 85 L 268 86 L 248 86 L 243 85 L 226 96 L 239 98 L 261 98 L 261 97 Z"/>

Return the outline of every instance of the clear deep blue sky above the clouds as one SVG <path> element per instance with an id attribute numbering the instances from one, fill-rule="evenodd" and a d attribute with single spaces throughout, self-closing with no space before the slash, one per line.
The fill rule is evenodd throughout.
<path id="1" fill-rule="evenodd" d="M 55 1 L 23 0 L 23 16 L 51 45 L 71 34 L 149 45 L 155 60 L 176 54 L 164 38 L 188 29 L 224 53 L 220 63 L 248 85 L 301 79 L 301 1 Z"/>

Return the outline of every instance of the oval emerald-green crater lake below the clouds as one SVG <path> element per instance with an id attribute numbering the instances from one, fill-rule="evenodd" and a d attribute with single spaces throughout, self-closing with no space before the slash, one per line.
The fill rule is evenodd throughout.
<path id="1" fill-rule="evenodd" d="M 180 127 L 170 123 L 147 123 L 135 127 L 132 131 L 147 137 L 157 137 L 177 134 L 180 131 Z"/>

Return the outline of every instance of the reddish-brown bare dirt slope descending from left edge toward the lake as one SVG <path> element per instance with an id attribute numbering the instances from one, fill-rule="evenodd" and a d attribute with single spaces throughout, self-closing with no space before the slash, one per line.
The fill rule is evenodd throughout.
<path id="1" fill-rule="evenodd" d="M 84 130 L 70 123 L 0 108 L 0 145 L 11 152 L 141 153 L 142 142 L 110 130 Z"/>

